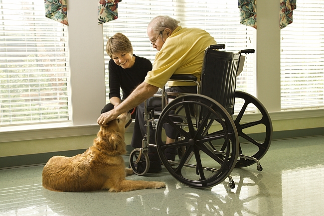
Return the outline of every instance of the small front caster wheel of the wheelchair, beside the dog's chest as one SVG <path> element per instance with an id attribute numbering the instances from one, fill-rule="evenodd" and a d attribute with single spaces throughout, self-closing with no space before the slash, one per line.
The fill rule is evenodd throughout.
<path id="1" fill-rule="evenodd" d="M 134 149 L 130 154 L 130 166 L 133 172 L 138 176 L 145 175 L 150 168 L 150 159 L 147 151 L 142 151 L 141 159 L 136 163 L 140 157 L 140 149 Z"/>

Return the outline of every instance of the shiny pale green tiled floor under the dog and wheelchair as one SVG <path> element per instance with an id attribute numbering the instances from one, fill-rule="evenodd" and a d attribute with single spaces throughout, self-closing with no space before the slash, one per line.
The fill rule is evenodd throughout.
<path id="1" fill-rule="evenodd" d="M 125 157 L 126 160 L 127 157 Z M 0 216 L 322 216 L 324 136 L 273 141 L 256 166 L 234 169 L 208 189 L 189 188 L 161 173 L 128 179 L 164 181 L 163 189 L 64 193 L 42 188 L 43 166 L 0 170 Z"/>

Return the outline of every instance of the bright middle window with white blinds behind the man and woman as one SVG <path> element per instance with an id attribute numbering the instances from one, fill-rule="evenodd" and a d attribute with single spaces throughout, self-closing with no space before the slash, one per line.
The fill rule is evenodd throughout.
<path id="1" fill-rule="evenodd" d="M 182 27 L 198 27 L 209 32 L 218 44 L 224 43 L 227 51 L 238 52 L 254 48 L 255 29 L 239 23 L 239 9 L 235 0 L 123 0 L 118 4 L 118 19 L 103 24 L 104 50 L 107 36 L 117 32 L 125 34 L 132 42 L 134 53 L 154 61 L 156 50 L 147 36 L 147 26 L 152 18 L 169 15 L 180 21 Z M 237 79 L 237 89 L 255 95 L 255 57 L 246 57 L 244 71 Z M 106 97 L 109 56 L 105 51 Z"/>

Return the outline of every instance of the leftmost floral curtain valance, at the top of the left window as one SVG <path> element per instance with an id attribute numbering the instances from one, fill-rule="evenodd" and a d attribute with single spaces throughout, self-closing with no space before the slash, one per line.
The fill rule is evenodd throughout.
<path id="1" fill-rule="evenodd" d="M 44 0 L 45 16 L 64 25 L 69 25 L 67 21 L 66 0 Z"/>

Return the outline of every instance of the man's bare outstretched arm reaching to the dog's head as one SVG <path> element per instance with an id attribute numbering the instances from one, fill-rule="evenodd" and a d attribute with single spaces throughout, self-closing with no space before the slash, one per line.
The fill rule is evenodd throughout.
<path id="1" fill-rule="evenodd" d="M 145 82 L 141 83 L 120 105 L 108 112 L 102 113 L 97 120 L 98 124 L 100 126 L 107 126 L 109 121 L 117 118 L 118 115 L 127 112 L 131 108 L 139 106 L 142 102 L 152 97 L 158 90 L 159 88 L 156 86 Z"/>

